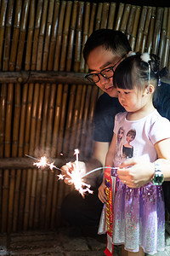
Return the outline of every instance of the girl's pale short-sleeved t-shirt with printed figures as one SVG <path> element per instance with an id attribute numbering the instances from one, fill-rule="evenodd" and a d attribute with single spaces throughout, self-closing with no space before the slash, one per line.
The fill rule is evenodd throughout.
<path id="1" fill-rule="evenodd" d="M 143 119 L 131 121 L 126 117 L 127 112 L 117 113 L 115 117 L 117 141 L 114 166 L 132 157 L 155 161 L 157 154 L 154 144 L 170 137 L 169 120 L 161 117 L 156 109 Z"/>

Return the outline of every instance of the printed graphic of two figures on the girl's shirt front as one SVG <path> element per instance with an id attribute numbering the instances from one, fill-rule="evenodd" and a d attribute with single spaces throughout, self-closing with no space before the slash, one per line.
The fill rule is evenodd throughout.
<path id="1" fill-rule="evenodd" d="M 116 140 L 116 157 L 121 159 L 128 159 L 133 157 L 133 145 L 131 144 L 136 137 L 134 129 L 126 131 L 120 127 L 117 132 Z"/>

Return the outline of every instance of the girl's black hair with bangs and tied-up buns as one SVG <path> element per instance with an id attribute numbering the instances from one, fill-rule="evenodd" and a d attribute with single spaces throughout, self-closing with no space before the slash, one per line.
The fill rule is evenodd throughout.
<path id="1" fill-rule="evenodd" d="M 150 80 L 156 86 L 161 72 L 159 71 L 160 59 L 154 54 L 150 54 Z M 142 61 L 141 54 L 137 53 L 123 60 L 113 77 L 113 84 L 120 89 L 132 90 L 134 87 L 144 89 L 144 81 L 149 81 L 148 62 Z"/>

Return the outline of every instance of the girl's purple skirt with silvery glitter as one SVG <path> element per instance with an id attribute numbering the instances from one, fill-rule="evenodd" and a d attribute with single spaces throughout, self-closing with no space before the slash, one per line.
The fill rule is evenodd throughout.
<path id="1" fill-rule="evenodd" d="M 130 189 L 118 178 L 114 196 L 113 244 L 130 252 L 155 254 L 165 247 L 165 211 L 161 186 L 149 183 Z M 102 216 L 103 215 L 103 216 Z M 99 233 L 105 233 L 105 207 Z"/>

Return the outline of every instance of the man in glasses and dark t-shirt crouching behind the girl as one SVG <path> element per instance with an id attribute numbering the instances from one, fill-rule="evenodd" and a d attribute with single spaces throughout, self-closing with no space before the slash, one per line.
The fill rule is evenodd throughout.
<path id="1" fill-rule="evenodd" d="M 124 111 L 116 97 L 116 89 L 113 84 L 114 71 L 119 63 L 130 54 L 132 54 L 132 49 L 126 36 L 122 32 L 110 29 L 100 29 L 93 32 L 83 50 L 83 56 L 89 68 L 89 74 L 86 78 L 94 81 L 104 91 L 104 94 L 99 97 L 94 116 L 93 150 L 93 160 L 99 160 L 103 166 L 105 166 L 105 155 L 113 135 L 114 117 L 116 113 Z M 170 107 L 168 107 L 170 86 L 167 84 L 161 86 L 163 86 L 163 89 L 159 88 L 155 105 L 161 115 L 170 119 Z M 93 160 L 91 160 L 91 164 L 93 164 Z M 89 163 L 90 161 L 88 161 Z M 132 166 L 135 164 L 133 162 Z M 92 170 L 94 167 L 96 167 L 96 162 L 90 169 Z M 144 177 L 143 170 L 138 173 L 134 172 L 133 176 L 128 175 L 127 177 L 124 172 L 121 175 L 123 179 L 125 177 L 128 179 L 132 187 L 135 187 L 135 184 L 139 181 L 144 183 L 148 179 L 148 177 Z M 100 182 L 101 178 L 96 177 L 96 183 L 93 184 L 92 188 L 94 195 L 86 195 L 85 198 L 82 198 L 82 195 L 74 190 L 66 196 L 61 212 L 63 217 L 71 224 L 98 226 L 100 212 L 103 207 L 98 198 Z M 99 194 L 105 197 L 105 188 L 99 187 Z"/>

